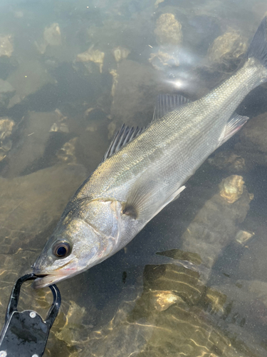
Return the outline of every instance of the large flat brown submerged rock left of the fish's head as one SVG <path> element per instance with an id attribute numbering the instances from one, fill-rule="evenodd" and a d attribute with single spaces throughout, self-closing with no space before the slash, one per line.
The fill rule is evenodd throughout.
<path id="1" fill-rule="evenodd" d="M 35 241 L 34 248 L 43 248 L 46 231 L 55 226 L 68 199 L 85 177 L 83 166 L 64 164 L 11 180 L 0 178 L 1 254 L 28 248 L 41 233 L 45 236 Z"/>

